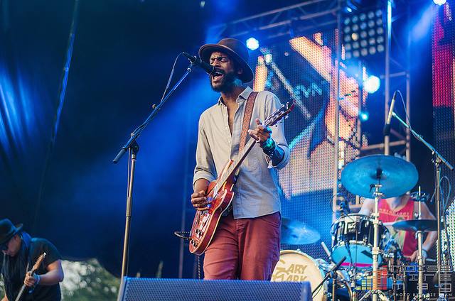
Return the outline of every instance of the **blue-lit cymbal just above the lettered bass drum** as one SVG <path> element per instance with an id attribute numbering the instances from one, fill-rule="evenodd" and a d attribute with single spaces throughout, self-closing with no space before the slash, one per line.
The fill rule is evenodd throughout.
<path id="1" fill-rule="evenodd" d="M 321 239 L 321 234 L 303 221 L 282 218 L 281 243 L 301 245 L 315 243 Z"/>

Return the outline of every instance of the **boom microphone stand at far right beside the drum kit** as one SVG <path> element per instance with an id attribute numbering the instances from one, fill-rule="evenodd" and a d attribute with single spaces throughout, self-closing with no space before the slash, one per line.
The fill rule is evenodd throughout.
<path id="1" fill-rule="evenodd" d="M 429 144 L 427 141 L 422 138 L 418 133 L 416 133 L 405 121 L 403 121 L 400 116 L 398 116 L 395 112 L 392 112 L 392 116 L 394 116 L 398 121 L 400 121 L 400 124 L 405 126 L 405 128 L 409 129 L 412 135 L 414 137 L 422 142 L 424 146 L 427 146 L 427 148 L 432 151 L 433 159 L 432 162 L 434 164 L 434 177 L 435 177 L 435 186 L 434 187 L 434 194 L 435 194 L 435 199 L 436 199 L 436 220 L 437 220 L 437 232 L 438 232 L 438 240 L 437 240 L 437 267 L 438 267 L 438 295 L 439 299 L 438 300 L 446 300 L 446 295 L 444 292 L 441 293 L 441 163 L 444 163 L 444 165 L 449 168 L 449 170 L 454 170 L 454 166 L 452 166 L 438 151 L 436 148 L 434 148 L 431 144 Z"/>

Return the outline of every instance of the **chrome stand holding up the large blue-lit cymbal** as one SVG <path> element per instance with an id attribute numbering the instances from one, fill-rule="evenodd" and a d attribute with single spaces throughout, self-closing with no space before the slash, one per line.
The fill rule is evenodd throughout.
<path id="1" fill-rule="evenodd" d="M 377 177 L 380 179 L 382 175 L 382 170 L 377 170 Z M 378 256 L 379 256 L 379 200 L 382 197 L 382 193 L 379 191 L 382 187 L 381 184 L 372 184 L 371 188 L 375 188 L 375 192 L 373 192 L 373 196 L 375 197 L 375 212 L 373 212 L 373 290 L 368 291 L 363 297 L 360 298 L 359 301 L 363 301 L 364 299 L 370 297 L 373 294 L 372 300 L 378 301 L 378 297 L 380 300 L 389 300 L 387 295 L 381 290 L 378 290 Z"/>

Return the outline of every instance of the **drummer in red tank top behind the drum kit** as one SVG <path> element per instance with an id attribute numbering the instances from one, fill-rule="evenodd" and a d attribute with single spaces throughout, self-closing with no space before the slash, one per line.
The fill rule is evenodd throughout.
<path id="1" fill-rule="evenodd" d="M 359 214 L 369 215 L 375 209 L 373 199 L 365 199 L 360 208 Z M 380 199 L 378 204 L 379 219 L 395 237 L 402 252 L 410 261 L 417 261 L 417 240 L 415 234 L 410 231 L 395 231 L 392 224 L 395 221 L 417 219 L 419 214 L 419 203 L 410 199 L 410 195 L 405 194 L 400 197 L 391 197 L 389 199 Z M 432 212 L 429 211 L 427 204 L 422 202 L 422 219 L 436 219 Z M 437 240 L 437 231 L 431 231 L 427 234 L 427 239 L 423 243 L 423 255 L 427 258 L 427 253 Z"/>

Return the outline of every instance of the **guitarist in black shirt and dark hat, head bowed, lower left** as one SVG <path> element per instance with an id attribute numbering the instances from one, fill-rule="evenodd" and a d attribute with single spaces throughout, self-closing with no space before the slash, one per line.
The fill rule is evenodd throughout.
<path id="1" fill-rule="evenodd" d="M 63 268 L 60 253 L 46 239 L 31 238 L 22 231 L 22 224 L 14 226 L 9 219 L 0 220 L 1 275 L 5 296 L 1 301 L 14 301 L 22 286 L 26 290 L 18 300 L 61 300 L 60 285 Z M 36 273 L 30 273 L 38 258 L 45 253 Z M 41 262 L 41 261 L 39 261 Z"/>

